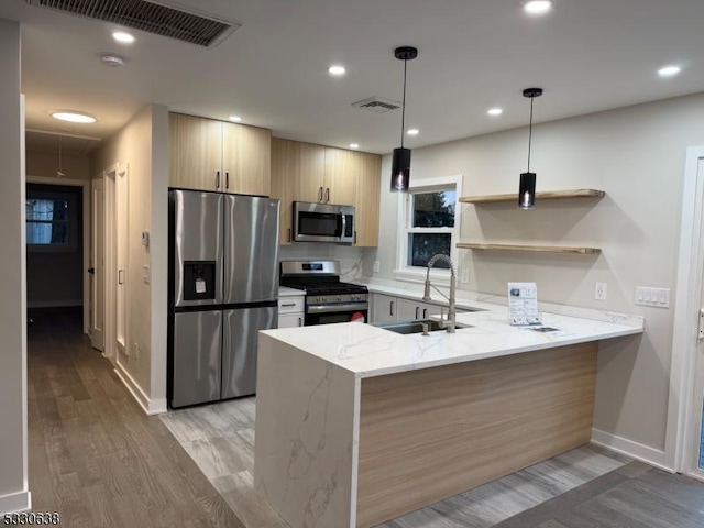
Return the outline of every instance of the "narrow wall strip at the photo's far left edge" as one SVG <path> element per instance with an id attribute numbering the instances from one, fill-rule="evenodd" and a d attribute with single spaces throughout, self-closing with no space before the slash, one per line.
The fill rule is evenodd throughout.
<path id="1" fill-rule="evenodd" d="M 0 20 L 0 513 L 30 507 L 20 24 Z"/>

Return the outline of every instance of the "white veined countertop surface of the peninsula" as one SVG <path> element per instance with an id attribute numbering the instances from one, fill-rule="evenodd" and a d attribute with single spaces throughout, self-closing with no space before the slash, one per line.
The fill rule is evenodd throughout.
<path id="1" fill-rule="evenodd" d="M 509 326 L 506 306 L 481 302 L 481 308 L 484 311 L 458 314 L 458 322 L 471 327 L 455 333 L 402 336 L 360 322 L 262 333 L 346 369 L 358 377 L 374 377 L 644 332 L 642 318 L 626 317 L 628 324 L 624 324 L 543 312 L 542 326 L 558 331 L 542 333 Z"/>

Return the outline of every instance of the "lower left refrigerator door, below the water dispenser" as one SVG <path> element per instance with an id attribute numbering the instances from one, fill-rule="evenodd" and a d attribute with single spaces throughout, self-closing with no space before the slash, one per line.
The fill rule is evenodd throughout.
<path id="1" fill-rule="evenodd" d="M 174 315 L 172 407 L 220 399 L 222 312 Z"/>

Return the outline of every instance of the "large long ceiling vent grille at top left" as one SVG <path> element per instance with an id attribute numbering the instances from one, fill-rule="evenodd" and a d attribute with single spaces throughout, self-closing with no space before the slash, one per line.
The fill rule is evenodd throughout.
<path id="1" fill-rule="evenodd" d="M 199 46 L 211 47 L 240 28 L 146 0 L 25 0 L 31 6 L 111 22 Z"/>

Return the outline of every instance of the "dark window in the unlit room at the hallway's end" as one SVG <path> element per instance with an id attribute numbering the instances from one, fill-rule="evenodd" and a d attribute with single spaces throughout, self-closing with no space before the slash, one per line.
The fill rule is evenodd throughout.
<path id="1" fill-rule="evenodd" d="M 26 245 L 32 250 L 75 250 L 77 200 L 70 191 L 36 190 L 29 185 L 25 200 Z"/>

